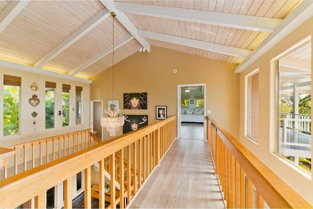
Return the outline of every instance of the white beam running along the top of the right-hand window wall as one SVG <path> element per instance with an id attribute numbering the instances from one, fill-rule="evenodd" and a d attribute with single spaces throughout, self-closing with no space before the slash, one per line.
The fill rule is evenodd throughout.
<path id="1" fill-rule="evenodd" d="M 247 57 L 242 63 L 237 66 L 235 72 L 242 72 L 249 65 L 255 62 L 259 57 L 266 53 L 269 49 L 274 47 L 278 42 L 288 36 L 293 30 L 307 21 L 313 16 L 313 1 L 304 0 L 302 1 L 286 19 L 277 26 L 274 32 L 270 33 L 266 39 L 253 50 L 253 52 Z M 303 43 L 308 42 L 311 37 L 307 40 L 303 40 Z"/>

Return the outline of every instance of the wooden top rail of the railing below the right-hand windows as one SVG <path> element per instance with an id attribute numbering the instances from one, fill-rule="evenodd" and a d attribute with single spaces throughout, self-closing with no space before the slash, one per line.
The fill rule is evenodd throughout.
<path id="1" fill-rule="evenodd" d="M 206 116 L 270 208 L 313 208 L 313 205 L 260 161 L 213 118 Z"/>

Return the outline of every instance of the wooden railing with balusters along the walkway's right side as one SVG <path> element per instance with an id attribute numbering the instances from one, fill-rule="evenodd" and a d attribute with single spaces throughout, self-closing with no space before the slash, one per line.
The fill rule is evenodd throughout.
<path id="1" fill-rule="evenodd" d="M 210 117 L 208 143 L 227 208 L 313 208 Z"/>

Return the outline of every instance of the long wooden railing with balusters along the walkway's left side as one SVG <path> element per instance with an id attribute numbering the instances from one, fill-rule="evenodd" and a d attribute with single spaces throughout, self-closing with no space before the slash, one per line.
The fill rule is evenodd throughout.
<path id="1" fill-rule="evenodd" d="M 110 157 L 110 205 L 127 207 L 177 136 L 177 117 L 171 116 L 136 131 L 96 144 L 63 158 L 18 173 L 0 181 L 0 208 L 15 208 L 34 199 L 35 208 L 46 208 L 45 193 L 64 183 L 64 208 L 72 207 L 72 176 L 84 171 L 85 208 L 91 208 L 91 166 L 99 163 L 99 208 L 105 208 L 105 160 Z M 115 163 L 115 153 L 120 159 Z M 131 166 L 133 169 L 131 169 Z M 136 172 L 137 171 L 137 172 Z M 119 172 L 119 192 L 115 173 Z M 126 172 L 126 180 L 124 179 Z M 127 189 L 124 183 L 127 184 Z M 113 188 L 113 189 L 112 189 Z M 119 196 L 116 195 L 119 193 Z M 107 193 L 106 193 L 107 194 Z"/>

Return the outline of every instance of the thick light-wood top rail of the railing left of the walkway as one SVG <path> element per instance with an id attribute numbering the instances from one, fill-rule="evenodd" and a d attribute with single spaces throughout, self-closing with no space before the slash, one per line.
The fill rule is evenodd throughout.
<path id="1" fill-rule="evenodd" d="M 171 116 L 164 121 L 175 119 L 176 116 Z M 153 123 L 0 181 L 0 208 L 16 207 L 28 201 L 157 129 L 158 123 Z"/>

